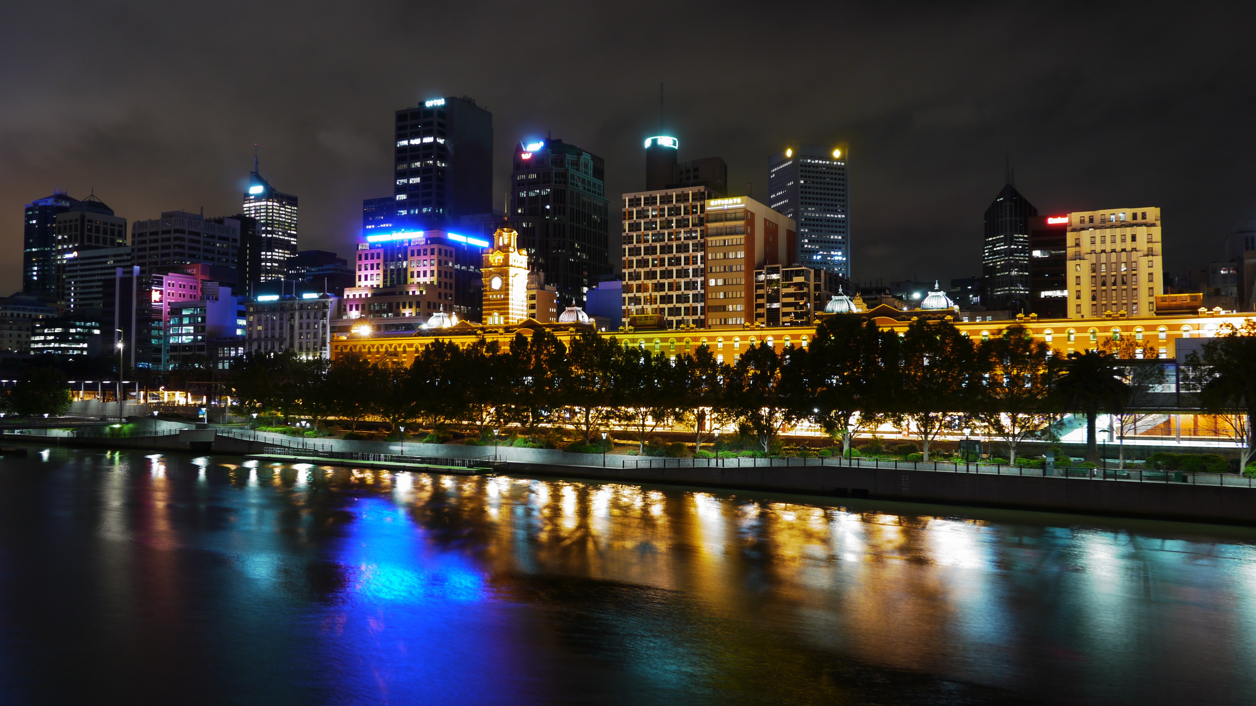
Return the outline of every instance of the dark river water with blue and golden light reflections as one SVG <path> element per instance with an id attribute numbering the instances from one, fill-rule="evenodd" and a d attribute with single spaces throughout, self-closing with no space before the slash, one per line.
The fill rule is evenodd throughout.
<path id="1" fill-rule="evenodd" d="M 0 703 L 1253 703 L 1256 530 L 31 446 Z"/>

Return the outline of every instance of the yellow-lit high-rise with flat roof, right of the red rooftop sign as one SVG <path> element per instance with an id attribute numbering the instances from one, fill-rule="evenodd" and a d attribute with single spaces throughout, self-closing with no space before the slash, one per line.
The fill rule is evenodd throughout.
<path id="1" fill-rule="evenodd" d="M 1161 210 L 1102 209 L 1069 214 L 1069 318 L 1147 315 L 1164 293 Z"/>

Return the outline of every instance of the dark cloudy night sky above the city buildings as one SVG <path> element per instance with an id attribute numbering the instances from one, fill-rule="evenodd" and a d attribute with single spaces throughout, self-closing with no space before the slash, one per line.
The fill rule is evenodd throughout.
<path id="1" fill-rule="evenodd" d="M 16 3 L 0 5 L 0 294 L 21 206 L 54 187 L 128 221 L 240 210 L 261 172 L 300 197 L 300 246 L 347 254 L 391 193 L 393 111 L 494 114 L 495 202 L 521 138 L 644 186 L 642 139 L 721 156 L 766 195 L 786 141 L 849 143 L 853 273 L 981 271 L 1004 183 L 1040 212 L 1164 209 L 1167 268 L 1256 219 L 1251 4 Z M 613 226 L 613 232 L 618 224 Z"/>

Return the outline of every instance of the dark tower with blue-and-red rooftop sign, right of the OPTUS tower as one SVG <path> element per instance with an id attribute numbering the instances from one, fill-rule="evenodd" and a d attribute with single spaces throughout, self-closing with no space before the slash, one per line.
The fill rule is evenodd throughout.
<path id="1" fill-rule="evenodd" d="M 561 139 L 515 147 L 510 221 L 529 266 L 558 286 L 564 307 L 583 307 L 584 293 L 610 274 L 610 202 L 602 157 Z"/>

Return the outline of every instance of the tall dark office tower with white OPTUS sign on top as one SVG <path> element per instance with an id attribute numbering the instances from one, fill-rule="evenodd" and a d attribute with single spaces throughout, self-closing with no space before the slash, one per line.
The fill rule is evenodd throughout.
<path id="1" fill-rule="evenodd" d="M 398 226 L 446 227 L 492 210 L 492 113 L 463 95 L 403 108 L 396 121 Z"/>

